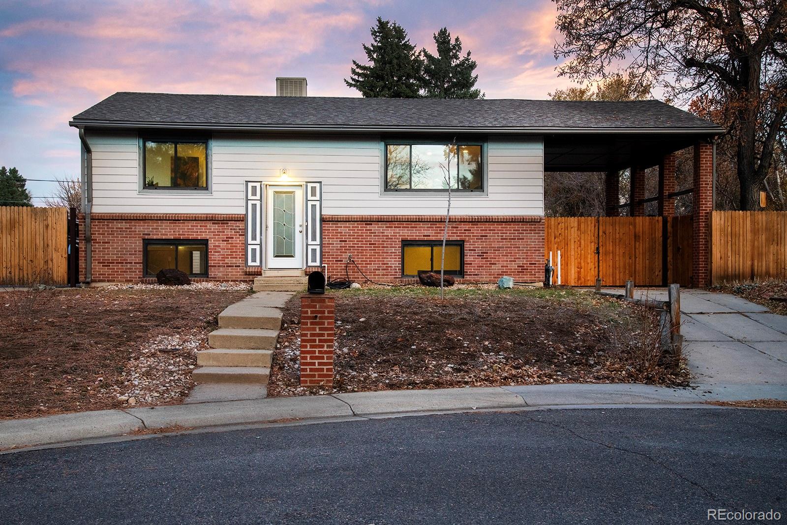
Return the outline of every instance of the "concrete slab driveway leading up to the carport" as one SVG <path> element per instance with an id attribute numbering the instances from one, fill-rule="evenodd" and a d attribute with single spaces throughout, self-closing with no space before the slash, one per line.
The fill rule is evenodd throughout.
<path id="1" fill-rule="evenodd" d="M 635 296 L 666 301 L 667 290 L 641 288 Z M 787 316 L 732 294 L 689 289 L 681 290 L 681 312 L 684 353 L 706 397 L 787 393 Z"/>

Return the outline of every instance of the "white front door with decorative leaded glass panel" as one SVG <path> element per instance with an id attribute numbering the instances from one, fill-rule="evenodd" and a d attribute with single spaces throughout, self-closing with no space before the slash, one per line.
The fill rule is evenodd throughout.
<path id="1" fill-rule="evenodd" d="M 303 269 L 303 187 L 268 186 L 266 199 L 267 267 Z"/>

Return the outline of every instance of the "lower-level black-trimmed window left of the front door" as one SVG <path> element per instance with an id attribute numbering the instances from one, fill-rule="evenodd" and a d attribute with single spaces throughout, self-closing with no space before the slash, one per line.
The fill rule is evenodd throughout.
<path id="1" fill-rule="evenodd" d="M 142 240 L 142 267 L 146 276 L 176 268 L 194 277 L 208 275 L 208 241 L 205 239 Z"/>

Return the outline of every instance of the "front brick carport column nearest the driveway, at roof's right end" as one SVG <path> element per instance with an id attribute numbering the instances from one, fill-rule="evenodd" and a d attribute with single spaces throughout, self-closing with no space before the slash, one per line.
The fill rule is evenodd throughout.
<path id="1" fill-rule="evenodd" d="M 698 141 L 694 145 L 694 194 L 692 235 L 692 286 L 710 284 L 710 220 L 713 210 L 713 144 Z"/>

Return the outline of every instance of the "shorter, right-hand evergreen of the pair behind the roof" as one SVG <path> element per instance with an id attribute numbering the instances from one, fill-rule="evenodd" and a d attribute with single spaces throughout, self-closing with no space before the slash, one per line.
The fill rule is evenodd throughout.
<path id="1" fill-rule="evenodd" d="M 421 50 L 423 56 L 423 96 L 425 98 L 484 98 L 475 88 L 478 75 L 475 60 L 470 51 L 462 56 L 462 42 L 457 36 L 451 41 L 451 33 L 442 28 L 434 35 L 438 56 Z"/>

